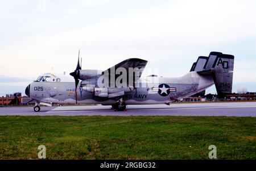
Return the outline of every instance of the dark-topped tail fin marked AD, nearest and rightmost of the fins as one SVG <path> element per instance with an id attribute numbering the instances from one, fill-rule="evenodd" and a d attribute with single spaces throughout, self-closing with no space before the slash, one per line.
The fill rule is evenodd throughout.
<path id="1" fill-rule="evenodd" d="M 200 74 L 211 74 L 218 95 L 224 96 L 225 94 L 232 93 L 233 70 L 233 55 L 226 55 L 220 52 L 210 52 L 203 69 L 195 71 Z"/>

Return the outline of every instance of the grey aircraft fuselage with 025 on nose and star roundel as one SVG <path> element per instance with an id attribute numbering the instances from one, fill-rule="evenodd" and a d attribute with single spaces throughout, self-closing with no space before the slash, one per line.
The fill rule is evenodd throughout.
<path id="1" fill-rule="evenodd" d="M 74 82 L 32 82 L 29 96 L 36 101 L 57 104 L 101 104 L 114 105 L 118 98 L 99 97 L 90 91 L 82 90 L 80 83 L 75 93 Z M 164 78 L 158 82 L 142 81 L 134 90 L 126 92 L 122 99 L 127 105 L 163 104 L 199 93 L 212 86 L 212 77 L 201 77 L 190 72 L 183 77 Z M 76 97 L 77 95 L 77 97 Z"/>

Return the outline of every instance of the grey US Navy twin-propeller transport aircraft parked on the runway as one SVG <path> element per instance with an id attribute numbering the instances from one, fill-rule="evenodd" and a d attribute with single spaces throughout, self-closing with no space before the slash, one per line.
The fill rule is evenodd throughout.
<path id="1" fill-rule="evenodd" d="M 112 68 L 82 70 L 80 57 L 76 70 L 70 73 L 74 82 L 61 82 L 52 74 L 43 75 L 26 87 L 26 95 L 36 101 L 34 111 L 40 105 L 101 104 L 112 105 L 118 111 L 126 105 L 167 104 L 199 93 L 215 84 L 217 93 L 232 93 L 234 56 L 210 52 L 193 63 L 189 73 L 182 77 L 141 78 L 147 61 L 131 58 Z M 80 81 L 81 80 L 81 81 Z"/>

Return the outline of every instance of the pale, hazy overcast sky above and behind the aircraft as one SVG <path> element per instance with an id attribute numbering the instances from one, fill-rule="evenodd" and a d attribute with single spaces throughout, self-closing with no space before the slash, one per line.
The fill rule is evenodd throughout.
<path id="1" fill-rule="evenodd" d="M 164 77 L 222 52 L 235 56 L 233 92 L 256 91 L 255 9 L 250 0 L 0 1 L 0 95 L 24 94 L 42 73 L 72 72 L 79 49 L 82 69 L 138 57 Z"/>

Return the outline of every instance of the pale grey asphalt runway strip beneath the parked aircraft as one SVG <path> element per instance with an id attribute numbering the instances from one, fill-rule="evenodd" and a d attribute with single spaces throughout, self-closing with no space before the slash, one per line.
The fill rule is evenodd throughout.
<path id="1" fill-rule="evenodd" d="M 128 105 L 127 111 L 114 111 L 110 106 L 62 106 L 41 107 L 34 112 L 33 107 L 0 107 L 0 116 L 256 116 L 256 102 L 229 103 L 171 103 L 168 105 Z"/>

